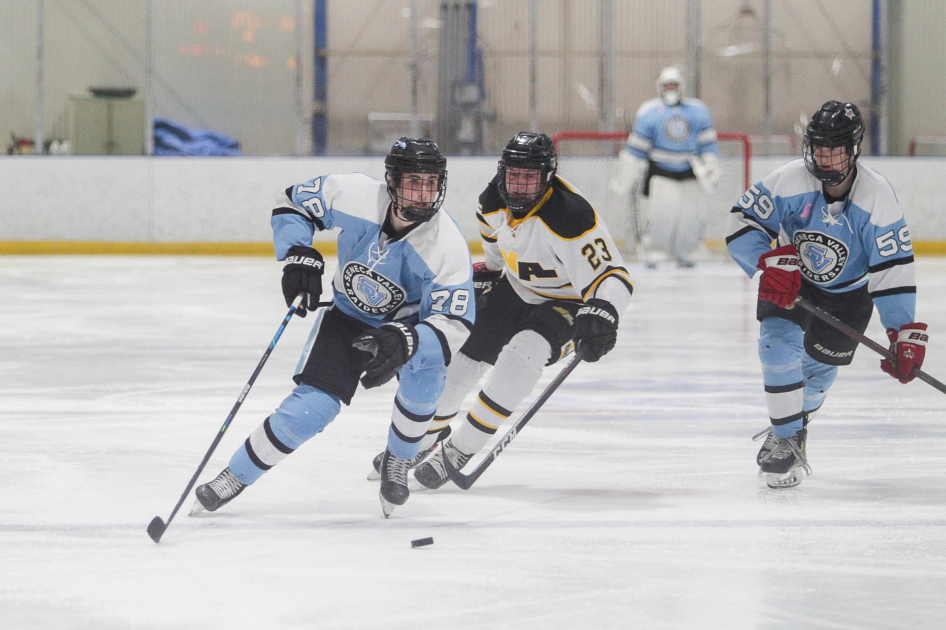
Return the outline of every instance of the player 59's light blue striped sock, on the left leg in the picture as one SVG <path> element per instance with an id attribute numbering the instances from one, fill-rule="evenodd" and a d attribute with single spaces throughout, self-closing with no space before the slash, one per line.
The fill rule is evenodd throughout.
<path id="1" fill-rule="evenodd" d="M 801 429 L 804 421 L 804 376 L 801 369 L 804 332 L 780 317 L 762 320 L 759 359 L 772 434 L 783 439 Z"/>

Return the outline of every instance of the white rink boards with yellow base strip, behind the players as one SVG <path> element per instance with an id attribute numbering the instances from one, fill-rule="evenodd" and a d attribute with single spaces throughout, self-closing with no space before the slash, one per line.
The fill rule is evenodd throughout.
<path id="1" fill-rule="evenodd" d="M 755 159 L 752 180 L 787 157 Z M 900 198 L 917 242 L 946 242 L 946 160 L 863 158 Z M 326 173 L 380 178 L 383 158 L 0 157 L 0 242 L 265 243 L 287 186 Z M 496 157 L 448 158 L 445 208 L 479 241 L 477 197 Z M 710 230 L 717 234 L 720 224 Z M 334 235 L 317 236 L 333 241 Z"/>

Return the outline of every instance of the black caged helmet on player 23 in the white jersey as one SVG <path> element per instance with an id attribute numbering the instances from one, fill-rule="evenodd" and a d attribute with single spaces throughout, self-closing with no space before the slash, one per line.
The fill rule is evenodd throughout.
<path id="1" fill-rule="evenodd" d="M 539 171 L 541 177 L 534 186 L 517 186 L 515 195 L 509 193 L 506 186 L 506 169 L 528 168 Z M 545 133 L 519 131 L 502 149 L 499 159 L 499 196 L 509 206 L 513 216 L 521 218 L 533 209 L 535 203 L 545 195 L 552 185 L 552 178 L 558 168 L 558 156 L 555 145 Z"/>

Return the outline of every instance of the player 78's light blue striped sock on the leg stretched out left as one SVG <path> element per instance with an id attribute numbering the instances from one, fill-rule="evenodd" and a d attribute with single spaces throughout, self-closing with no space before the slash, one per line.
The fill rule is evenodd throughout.
<path id="1" fill-rule="evenodd" d="M 243 484 L 253 484 L 308 438 L 322 433 L 341 408 L 336 397 L 311 385 L 298 385 L 236 450 L 230 471 Z"/>

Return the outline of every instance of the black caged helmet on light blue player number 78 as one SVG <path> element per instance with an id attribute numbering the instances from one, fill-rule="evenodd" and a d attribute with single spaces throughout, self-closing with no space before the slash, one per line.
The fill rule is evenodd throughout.
<path id="1" fill-rule="evenodd" d="M 447 194 L 447 158 L 440 152 L 437 143 L 429 138 L 398 138 L 384 159 L 384 168 L 388 196 L 391 197 L 397 212 L 414 223 L 424 223 L 433 218 L 444 204 L 444 196 Z M 404 181 L 403 176 L 418 173 L 438 176 L 437 196 L 433 201 L 422 204 L 423 207 L 418 207 L 416 201 L 404 196 L 406 191 L 417 188 L 420 184 L 414 179 Z M 397 191 L 399 186 L 400 195 Z"/>

